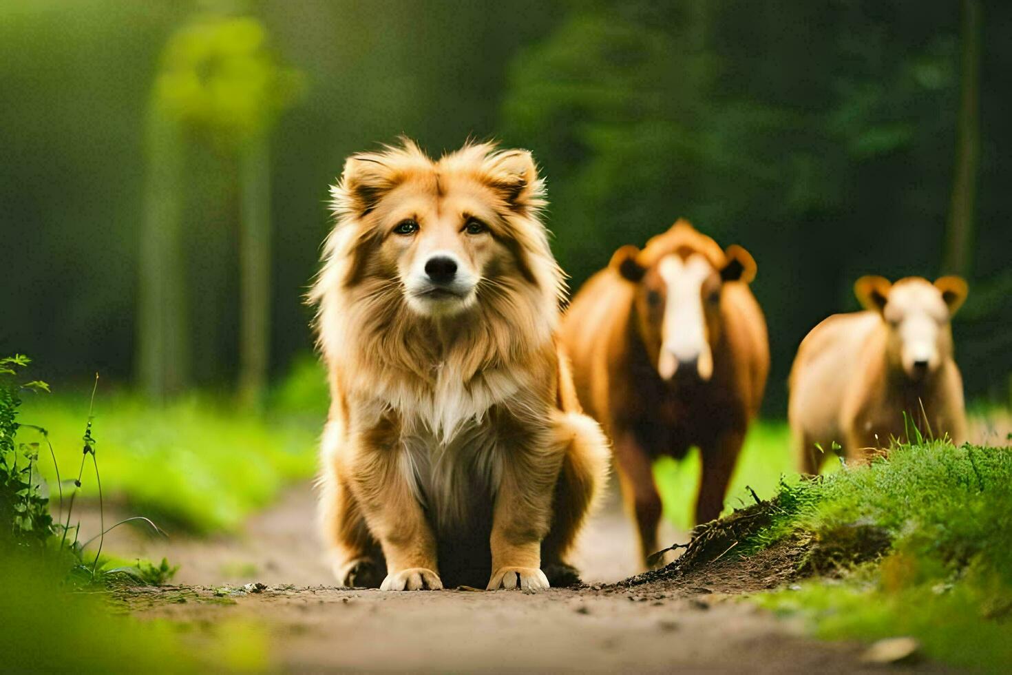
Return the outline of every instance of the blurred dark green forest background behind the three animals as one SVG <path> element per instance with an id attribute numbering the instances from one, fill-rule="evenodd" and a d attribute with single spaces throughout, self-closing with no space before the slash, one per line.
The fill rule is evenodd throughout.
<path id="1" fill-rule="evenodd" d="M 0 0 L 0 352 L 263 396 L 344 158 L 533 151 L 574 290 L 686 217 L 748 248 L 780 417 L 853 280 L 964 274 L 968 397 L 1012 372 L 1005 0 Z"/>

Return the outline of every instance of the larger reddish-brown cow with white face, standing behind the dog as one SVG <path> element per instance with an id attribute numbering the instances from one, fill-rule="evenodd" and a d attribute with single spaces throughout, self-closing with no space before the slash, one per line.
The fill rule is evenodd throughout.
<path id="1" fill-rule="evenodd" d="M 652 466 L 696 445 L 696 520 L 720 515 L 769 370 L 766 322 L 749 282 L 756 264 L 685 221 L 623 246 L 573 300 L 563 341 L 580 401 L 614 442 L 643 556 L 657 551 L 661 498 Z"/>

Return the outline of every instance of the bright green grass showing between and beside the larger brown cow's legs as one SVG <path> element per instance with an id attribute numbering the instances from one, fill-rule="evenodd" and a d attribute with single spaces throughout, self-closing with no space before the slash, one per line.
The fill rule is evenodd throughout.
<path id="1" fill-rule="evenodd" d="M 827 462 L 830 472 L 837 467 L 836 462 Z M 664 501 L 664 515 L 679 529 L 689 529 L 694 524 L 699 471 L 699 450 L 696 448 L 681 461 L 662 457 L 654 465 L 654 478 Z M 745 438 L 745 446 L 731 478 L 725 513 L 753 503 L 746 486 L 755 490 L 760 498 L 768 499 L 775 494 L 781 476 L 796 473 L 786 422 L 755 422 Z"/>

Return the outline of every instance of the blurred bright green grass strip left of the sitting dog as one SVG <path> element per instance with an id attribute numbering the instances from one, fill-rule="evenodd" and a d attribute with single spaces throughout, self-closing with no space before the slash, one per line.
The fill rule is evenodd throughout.
<path id="1" fill-rule="evenodd" d="M 22 423 L 49 431 L 64 481 L 77 478 L 81 467 L 88 405 L 85 394 L 40 393 L 26 396 L 21 409 Z M 323 422 L 322 416 L 311 422 L 276 410 L 237 412 L 200 396 L 153 406 L 101 390 L 93 415 L 105 499 L 163 526 L 198 533 L 234 530 L 286 485 L 310 478 Z M 28 440 L 34 432 L 24 428 L 21 433 Z M 56 507 L 56 474 L 48 459 L 45 453 L 38 470 L 51 485 Z M 81 483 L 80 497 L 98 497 L 90 461 Z"/>

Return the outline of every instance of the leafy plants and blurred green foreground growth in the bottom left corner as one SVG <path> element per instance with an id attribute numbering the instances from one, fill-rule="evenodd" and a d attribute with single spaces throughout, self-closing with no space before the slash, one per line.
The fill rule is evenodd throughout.
<path id="1" fill-rule="evenodd" d="M 199 653 L 184 649 L 178 630 L 168 622 L 141 622 L 109 613 L 111 596 L 104 591 L 110 586 L 161 585 L 177 567 L 165 559 L 156 565 L 102 557 L 100 544 L 89 565 L 84 556 L 87 543 L 77 541 L 76 528 L 53 522 L 36 472 L 37 443 L 21 442 L 17 433 L 29 428 L 16 421 L 20 392 L 49 391 L 43 383 L 18 383 L 19 369 L 28 363 L 30 359 L 20 355 L 0 359 L 0 625 L 4 629 L 0 669 L 177 673 L 266 668 L 264 639 L 255 626 L 223 625 L 213 635 L 213 649 L 194 656 Z M 33 428 L 48 438 L 45 430 Z M 88 455 L 99 485 L 91 431 L 89 416 L 76 487 L 82 485 Z M 61 498 L 61 508 L 62 502 Z M 71 529 L 73 540 L 67 537 Z M 102 534 L 96 538 L 101 541 Z M 98 593 L 93 592 L 95 582 L 100 584 Z M 81 592 L 86 587 L 88 592 Z"/>

